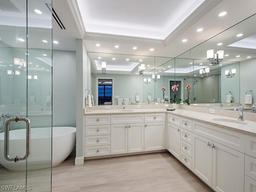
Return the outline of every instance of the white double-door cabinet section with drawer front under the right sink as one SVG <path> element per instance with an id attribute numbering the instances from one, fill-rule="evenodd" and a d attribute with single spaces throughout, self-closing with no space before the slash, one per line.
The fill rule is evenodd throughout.
<path id="1" fill-rule="evenodd" d="M 196 121 L 192 127 L 192 171 L 216 192 L 244 191 L 244 134 Z"/>

